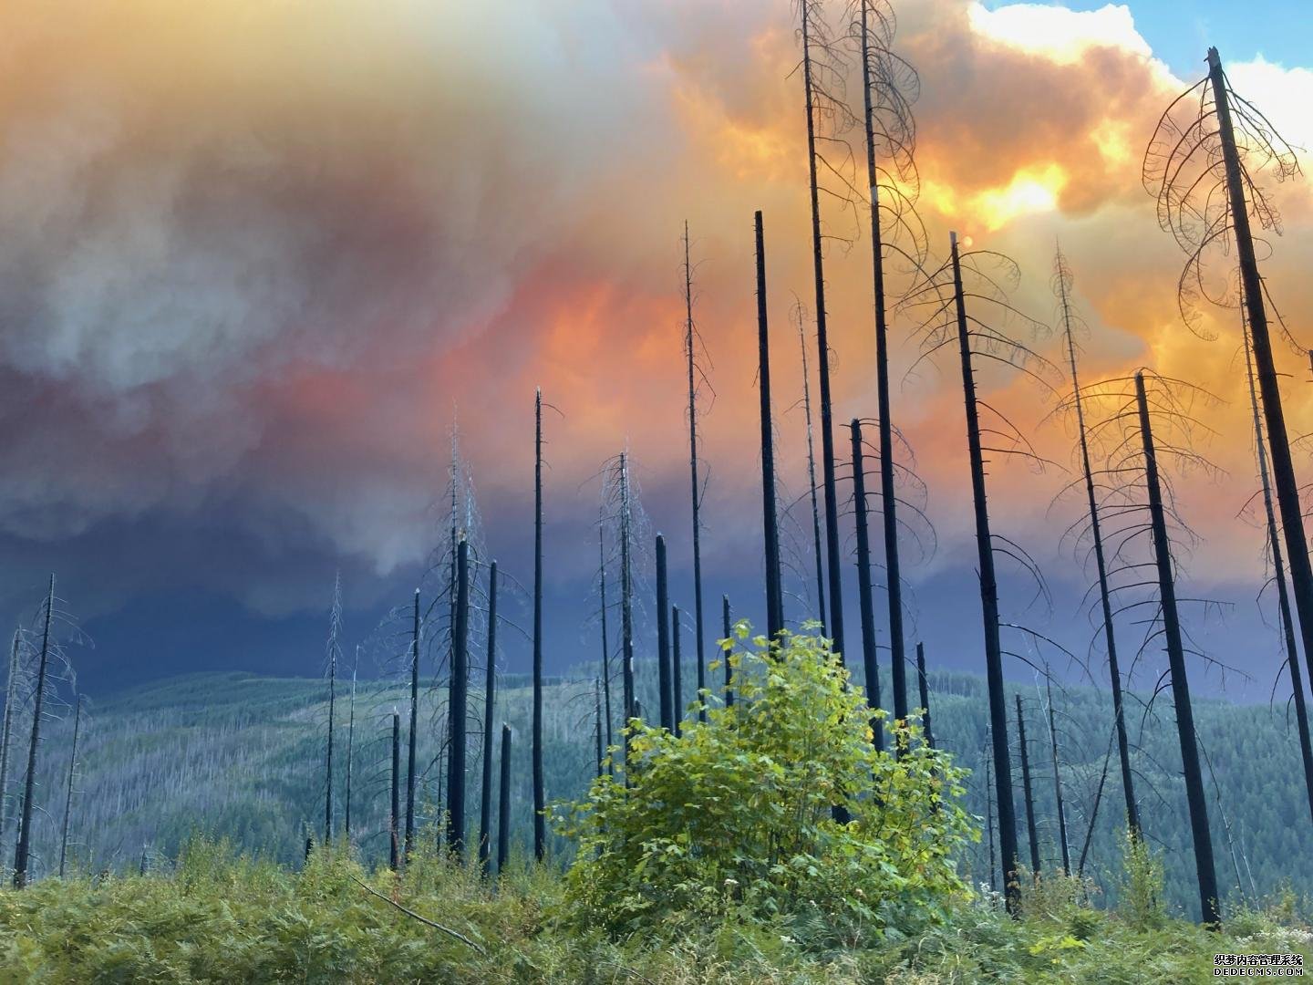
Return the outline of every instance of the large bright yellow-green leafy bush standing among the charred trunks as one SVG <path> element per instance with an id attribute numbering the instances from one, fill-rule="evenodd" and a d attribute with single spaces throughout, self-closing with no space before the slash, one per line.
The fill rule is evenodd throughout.
<path id="1" fill-rule="evenodd" d="M 625 934 L 741 914 L 859 943 L 937 918 L 968 892 L 955 856 L 979 837 L 958 805 L 964 771 L 915 725 L 894 733 L 901 758 L 877 753 L 865 696 L 827 641 L 785 632 L 744 647 L 748 632 L 723 644 L 733 705 L 678 738 L 633 724 L 628 770 L 558 816 L 579 842 L 574 919 Z"/>

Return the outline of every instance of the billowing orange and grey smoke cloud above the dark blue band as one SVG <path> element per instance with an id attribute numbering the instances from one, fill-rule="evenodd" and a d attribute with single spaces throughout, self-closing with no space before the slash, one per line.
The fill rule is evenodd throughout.
<path id="1" fill-rule="evenodd" d="M 1015 303 L 1050 320 L 1061 239 L 1094 327 L 1088 377 L 1152 364 L 1225 398 L 1209 423 L 1230 478 L 1182 483 L 1183 510 L 1207 537 L 1201 573 L 1257 579 L 1259 538 L 1233 519 L 1253 485 L 1234 318 L 1212 317 L 1222 338 L 1211 344 L 1180 324 L 1183 257 L 1140 179 L 1184 80 L 1119 8 L 1020 18 L 968 0 L 905 7 L 897 46 L 922 76 L 930 247 L 941 255 L 955 229 L 1011 253 Z M 47 397 L 53 412 L 32 422 L 5 405 L 35 431 L 7 444 L 29 464 L 0 477 L 0 529 L 28 537 L 39 514 L 43 536 L 75 538 L 154 511 L 196 517 L 217 496 L 231 504 L 225 523 L 259 515 L 252 529 L 286 552 L 386 573 L 424 556 L 453 416 L 481 491 L 523 512 L 536 385 L 563 415 L 549 454 L 572 533 L 595 510 L 590 477 L 626 443 L 658 520 L 683 524 L 688 219 L 713 364 L 706 550 L 712 563 L 739 561 L 756 542 L 754 209 L 765 215 L 781 462 L 793 495 L 805 489 L 790 309 L 814 302 L 790 16 L 746 0 L 513 12 L 135 0 L 83 3 L 77 16 L 18 4 L 4 56 L 22 83 L 0 95 L 0 373 L 14 395 L 0 399 Z M 1266 64 L 1233 75 L 1260 105 L 1278 83 L 1304 84 Z M 1313 257 L 1308 183 L 1279 201 L 1287 230 L 1266 274 L 1299 334 L 1313 305 L 1300 274 Z M 826 229 L 844 422 L 874 412 L 871 259 L 864 238 L 840 242 L 860 222 L 832 200 Z M 894 412 L 930 481 L 943 565 L 966 515 L 960 398 L 951 362 L 902 381 L 918 356 L 910 330 L 899 317 Z M 1292 429 L 1309 429 L 1302 362 L 1283 360 Z M 1033 387 L 985 380 L 1020 426 L 1048 412 Z M 1062 428 L 1036 440 L 1069 461 Z M 133 465 L 97 458 L 98 481 L 70 468 L 88 445 L 131 448 Z M 1052 540 L 1035 529 L 1035 502 L 1062 481 L 995 469 L 1001 528 Z M 588 563 L 571 558 L 563 577 Z M 252 604 L 306 600 L 268 565 L 213 577 Z"/>

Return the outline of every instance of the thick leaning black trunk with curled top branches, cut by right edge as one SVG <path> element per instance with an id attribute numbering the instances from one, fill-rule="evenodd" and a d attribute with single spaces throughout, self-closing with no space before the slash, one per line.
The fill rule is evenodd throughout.
<path id="1" fill-rule="evenodd" d="M 1217 49 L 1215 47 L 1208 49 L 1208 76 L 1213 88 L 1213 100 L 1217 105 L 1217 129 L 1222 144 L 1222 163 L 1226 168 L 1226 196 L 1230 204 L 1232 229 L 1236 234 L 1236 253 L 1239 260 L 1245 311 L 1249 315 L 1254 365 L 1258 370 L 1258 390 L 1263 398 L 1267 444 L 1272 453 L 1272 481 L 1276 486 L 1276 504 L 1281 515 L 1281 532 L 1285 536 L 1285 556 L 1291 565 L 1291 587 L 1295 591 L 1295 609 L 1300 617 L 1304 661 L 1309 671 L 1309 679 L 1313 680 L 1313 566 L 1309 563 L 1308 540 L 1304 535 L 1304 516 L 1300 508 L 1299 483 L 1295 478 L 1295 466 L 1291 462 L 1291 443 L 1285 432 L 1281 391 L 1276 381 L 1276 366 L 1272 361 L 1272 343 L 1267 331 L 1267 310 L 1263 305 L 1263 282 L 1259 277 L 1258 260 L 1254 255 L 1254 239 L 1250 232 L 1249 210 L 1245 202 L 1245 177 L 1239 163 L 1239 154 L 1236 150 L 1236 134 L 1232 127 L 1226 80 L 1222 75 L 1221 58 L 1218 58 Z"/>

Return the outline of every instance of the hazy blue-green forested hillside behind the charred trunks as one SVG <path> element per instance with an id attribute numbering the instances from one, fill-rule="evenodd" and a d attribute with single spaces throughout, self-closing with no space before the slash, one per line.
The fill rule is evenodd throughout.
<path id="1" fill-rule="evenodd" d="M 639 665 L 639 670 L 649 667 Z M 445 775 L 436 741 L 444 720 L 442 692 L 431 687 L 431 682 L 424 683 L 419 734 L 424 772 L 416 797 L 420 823 L 436 818 L 442 785 L 437 777 Z M 934 737 L 973 771 L 966 804 L 983 818 L 985 682 L 969 674 L 931 672 L 930 688 Z M 655 691 L 655 682 L 641 675 L 639 696 L 649 691 Z M 527 680 L 516 676 L 503 679 L 498 693 L 498 725 L 508 722 L 517 742 L 511 791 L 516 809 L 515 843 L 521 851 L 532 842 L 525 741 L 530 693 Z M 1053 867 L 1060 850 L 1044 693 L 1035 687 L 1015 687 L 1015 693 L 1022 695 L 1027 714 L 1041 863 Z M 471 691 L 471 708 L 482 708 L 479 699 Z M 348 700 L 339 692 L 339 817 L 345 799 Z M 391 713 L 394 708 L 404 712 L 407 700 L 408 695 L 395 684 L 361 682 L 357 687 L 351 756 L 352 839 L 366 859 L 386 856 Z M 545 688 L 549 802 L 582 796 L 595 770 L 593 700 L 593 684 L 582 675 L 551 680 Z M 1115 754 L 1107 760 L 1107 699 L 1104 692 L 1090 687 L 1069 687 L 1054 691 L 1053 704 L 1071 864 L 1075 867 L 1082 855 L 1102 779 L 1086 873 L 1113 902 L 1124 818 Z M 1284 885 L 1302 892 L 1313 884 L 1313 831 L 1299 823 L 1302 789 L 1293 730 L 1287 728 L 1279 708 L 1263 705 L 1196 701 L 1195 717 L 1205 739 L 1217 867 L 1228 900 L 1268 897 Z M 70 858 L 79 868 L 93 872 L 138 868 L 143 858 L 147 868 L 164 864 L 196 830 L 228 838 L 256 855 L 294 863 L 305 850 L 307 830 L 319 830 L 324 796 L 324 682 L 249 674 L 192 675 L 109 697 L 93 707 L 88 718 L 83 726 L 70 835 Z M 403 754 L 406 718 L 403 713 Z M 471 722 L 474 745 L 467 768 L 471 833 L 478 823 L 475 793 L 482 756 L 477 738 L 482 729 L 477 725 Z M 38 802 L 43 813 L 38 813 L 34 825 L 37 877 L 58 864 L 70 728 L 68 721 L 56 722 L 42 743 Z M 1137 739 L 1133 758 L 1142 777 L 1140 797 L 1145 805 L 1146 837 L 1163 852 L 1169 901 L 1190 914 L 1194 896 L 1190 827 L 1175 722 L 1166 697 L 1158 699 L 1142 730 L 1140 714 L 1134 716 L 1132 735 Z M 1018 756 L 1014 763 L 1020 808 Z M 494 812 L 495 801 L 494 797 Z M 11 805 L 11 817 L 12 810 Z M 1029 858 L 1025 826 L 1019 826 L 1025 860 Z M 12 825 L 7 826 L 5 838 L 4 851 L 9 855 Z M 561 838 L 554 838 L 553 847 L 558 855 L 569 851 Z M 987 847 L 986 831 L 968 859 L 973 883 L 990 881 Z"/>

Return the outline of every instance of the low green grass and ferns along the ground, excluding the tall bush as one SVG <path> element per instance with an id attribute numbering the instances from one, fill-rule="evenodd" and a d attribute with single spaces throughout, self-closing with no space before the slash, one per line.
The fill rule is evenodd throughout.
<path id="1" fill-rule="evenodd" d="M 433 844 L 433 833 L 420 843 Z M 825 934 L 805 913 L 776 923 L 674 918 L 611 940 L 566 930 L 550 868 L 520 863 L 490 884 L 424 850 L 397 879 L 336 850 L 291 871 L 193 839 L 165 871 L 0 890 L 0 981 L 1129 984 L 1212 978 L 1217 952 L 1313 960 L 1313 932 L 1289 896 L 1233 914 L 1215 934 L 1152 901 L 1099 910 L 1088 892 L 1067 879 L 1027 880 L 1020 919 L 974 893 L 939 926 L 889 931 L 863 950 L 813 947 Z"/>

